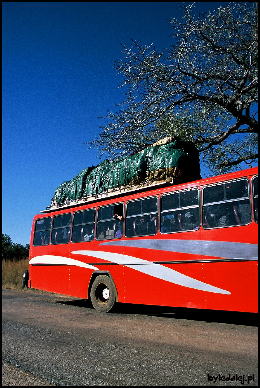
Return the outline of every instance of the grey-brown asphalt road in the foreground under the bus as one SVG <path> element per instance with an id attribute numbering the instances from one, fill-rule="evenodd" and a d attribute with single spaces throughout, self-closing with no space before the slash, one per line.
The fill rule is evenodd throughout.
<path id="1" fill-rule="evenodd" d="M 243 375 L 258 386 L 254 314 L 123 304 L 102 314 L 32 290 L 2 300 L 3 386 L 17 373 L 38 386 L 241 386 Z"/>

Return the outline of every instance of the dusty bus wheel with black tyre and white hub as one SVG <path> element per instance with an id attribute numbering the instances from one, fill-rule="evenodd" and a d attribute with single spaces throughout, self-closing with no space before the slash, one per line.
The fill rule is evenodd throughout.
<path id="1" fill-rule="evenodd" d="M 116 293 L 113 282 L 106 275 L 99 275 L 94 280 L 90 299 L 93 307 L 102 313 L 107 313 L 111 310 L 115 303 Z"/>

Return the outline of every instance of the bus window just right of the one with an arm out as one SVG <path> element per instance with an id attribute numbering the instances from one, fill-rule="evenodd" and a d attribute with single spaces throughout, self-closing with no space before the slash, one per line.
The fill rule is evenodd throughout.
<path id="1" fill-rule="evenodd" d="M 151 236 L 158 232 L 157 197 L 127 203 L 126 237 Z"/>

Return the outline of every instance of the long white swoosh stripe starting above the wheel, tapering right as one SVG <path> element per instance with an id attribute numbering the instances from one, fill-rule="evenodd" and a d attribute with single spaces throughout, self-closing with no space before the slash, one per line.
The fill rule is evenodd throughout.
<path id="1" fill-rule="evenodd" d="M 183 275 L 180 272 L 175 271 L 171 268 L 164 267 L 164 265 L 154 264 L 153 262 L 139 259 L 137 257 L 122 255 L 120 253 L 101 251 L 73 251 L 72 253 L 75 253 L 77 255 L 92 256 L 99 259 L 108 260 L 113 263 L 125 265 L 125 267 L 132 268 L 136 271 L 142 272 L 143 274 L 157 277 L 157 279 L 162 279 L 167 282 L 178 284 L 179 286 L 194 288 L 197 290 L 208 291 L 217 294 L 230 294 L 229 291 L 211 286 L 210 284 L 201 282 L 197 279 L 193 279 L 192 277 Z"/>

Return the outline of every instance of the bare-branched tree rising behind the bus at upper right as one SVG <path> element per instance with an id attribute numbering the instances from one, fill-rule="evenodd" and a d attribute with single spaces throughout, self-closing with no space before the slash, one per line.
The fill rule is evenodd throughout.
<path id="1" fill-rule="evenodd" d="M 157 53 L 123 46 L 125 100 L 92 139 L 100 155 L 127 155 L 162 137 L 194 144 L 210 171 L 254 165 L 258 158 L 258 4 L 230 3 L 171 19 L 175 45 Z"/>

